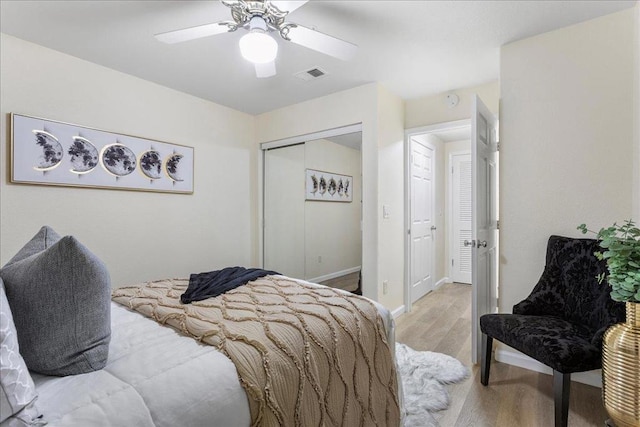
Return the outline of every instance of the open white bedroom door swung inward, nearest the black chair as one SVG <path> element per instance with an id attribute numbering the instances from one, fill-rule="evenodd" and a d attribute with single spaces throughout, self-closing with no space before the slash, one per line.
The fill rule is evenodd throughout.
<path id="1" fill-rule="evenodd" d="M 472 220 L 472 324 L 473 363 L 481 354 L 480 316 L 495 311 L 498 242 L 497 123 L 477 96 L 471 111 Z"/>

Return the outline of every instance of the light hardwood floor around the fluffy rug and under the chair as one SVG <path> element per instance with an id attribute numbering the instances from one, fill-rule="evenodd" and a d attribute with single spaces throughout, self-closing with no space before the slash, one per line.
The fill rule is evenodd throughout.
<path id="1" fill-rule="evenodd" d="M 471 286 L 449 283 L 396 319 L 396 340 L 416 350 L 456 357 L 471 365 Z M 494 347 L 495 347 L 494 341 Z M 470 378 L 448 385 L 451 404 L 436 413 L 442 427 L 552 427 L 552 377 L 496 362 L 489 385 L 480 384 L 480 368 Z M 572 382 L 569 427 L 604 426 L 608 418 L 599 388 Z"/>

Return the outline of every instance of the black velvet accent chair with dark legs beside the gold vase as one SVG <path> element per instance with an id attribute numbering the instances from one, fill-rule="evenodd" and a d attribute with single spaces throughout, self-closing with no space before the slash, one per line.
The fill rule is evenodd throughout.
<path id="1" fill-rule="evenodd" d="M 573 372 L 602 367 L 602 335 L 624 321 L 624 303 L 613 301 L 596 276 L 606 263 L 593 253 L 593 239 L 551 236 L 542 277 L 531 294 L 513 306 L 513 314 L 480 317 L 480 381 L 489 383 L 493 339 L 553 369 L 555 425 L 565 427 Z"/>

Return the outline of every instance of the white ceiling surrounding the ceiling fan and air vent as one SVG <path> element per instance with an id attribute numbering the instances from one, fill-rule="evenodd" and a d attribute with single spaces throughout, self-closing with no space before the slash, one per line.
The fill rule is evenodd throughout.
<path id="1" fill-rule="evenodd" d="M 403 99 L 498 79 L 505 43 L 633 7 L 633 1 L 324 1 L 288 21 L 359 46 L 343 62 L 278 40 L 278 74 L 257 79 L 243 31 L 175 45 L 160 32 L 230 20 L 208 1 L 7 1 L 0 30 L 250 114 L 378 81 Z M 293 75 L 320 67 L 305 82 Z M 43 72 L 46 72 L 43 64 Z"/>

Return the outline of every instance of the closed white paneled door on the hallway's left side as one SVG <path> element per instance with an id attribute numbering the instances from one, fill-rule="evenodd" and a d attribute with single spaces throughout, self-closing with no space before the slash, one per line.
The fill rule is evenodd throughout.
<path id="1" fill-rule="evenodd" d="M 435 148 L 411 139 L 411 302 L 433 290 L 434 154 Z"/>

